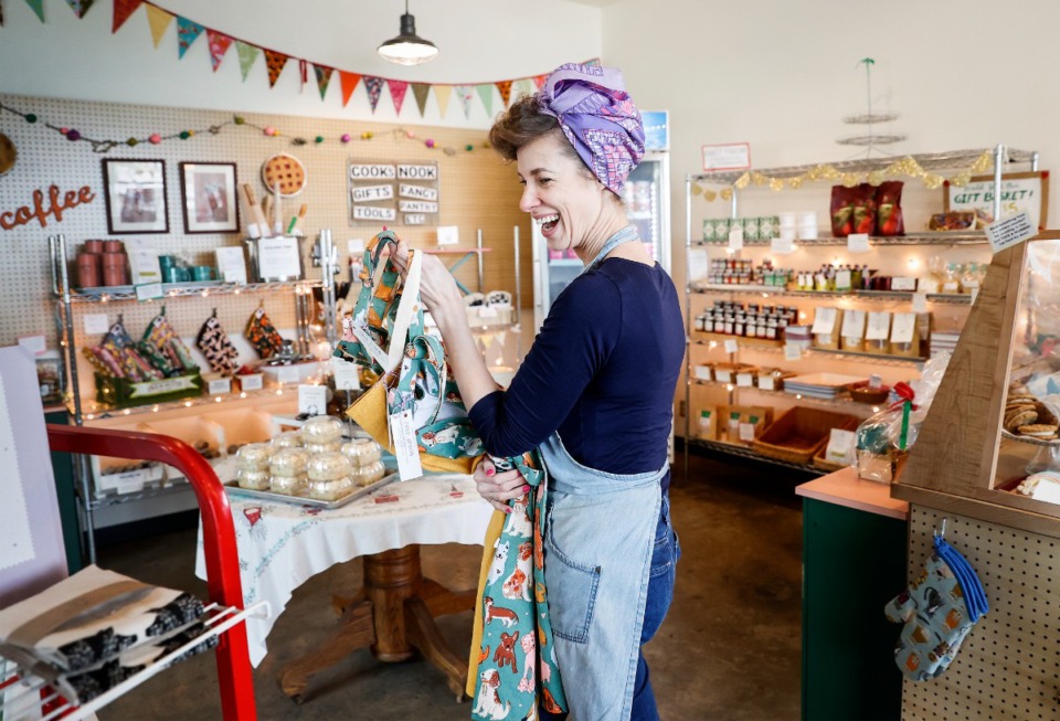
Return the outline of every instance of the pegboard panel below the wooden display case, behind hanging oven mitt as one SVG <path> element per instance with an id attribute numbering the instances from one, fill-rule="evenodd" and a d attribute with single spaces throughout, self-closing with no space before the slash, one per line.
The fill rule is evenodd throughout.
<path id="1" fill-rule="evenodd" d="M 904 681 L 902 719 L 1060 718 L 1060 539 L 913 506 L 911 577 L 923 569 L 944 518 L 945 539 L 975 569 L 990 611 L 941 677 Z"/>

